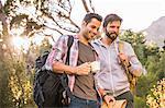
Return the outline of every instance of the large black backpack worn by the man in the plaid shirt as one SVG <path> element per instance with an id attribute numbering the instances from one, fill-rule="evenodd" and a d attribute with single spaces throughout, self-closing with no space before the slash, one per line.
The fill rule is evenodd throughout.
<path id="1" fill-rule="evenodd" d="M 69 49 L 74 37 L 68 36 L 66 63 L 69 64 Z M 38 108 L 66 107 L 72 92 L 68 87 L 66 73 L 55 73 L 46 70 L 44 64 L 50 51 L 45 51 L 35 60 L 35 74 L 33 83 L 33 98 Z"/>

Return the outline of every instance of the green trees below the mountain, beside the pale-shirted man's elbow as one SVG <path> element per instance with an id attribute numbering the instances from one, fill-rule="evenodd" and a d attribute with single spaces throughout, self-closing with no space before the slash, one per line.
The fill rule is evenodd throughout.
<path id="1" fill-rule="evenodd" d="M 147 70 L 147 74 L 138 80 L 135 96 L 135 108 L 147 108 L 145 101 L 146 96 L 151 94 L 150 88 L 164 77 L 165 51 L 161 50 L 154 43 L 146 43 L 143 33 L 128 29 L 121 34 L 120 38 L 133 46 L 136 56 Z"/>

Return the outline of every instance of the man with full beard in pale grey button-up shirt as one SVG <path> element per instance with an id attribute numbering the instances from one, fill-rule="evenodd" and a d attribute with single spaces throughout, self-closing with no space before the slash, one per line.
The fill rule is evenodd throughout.
<path id="1" fill-rule="evenodd" d="M 133 95 L 130 92 L 130 83 L 121 61 L 129 64 L 129 71 L 135 76 L 141 75 L 142 64 L 129 43 L 122 41 L 124 53 L 119 52 L 121 40 L 118 36 L 121 23 L 120 16 L 108 14 L 103 21 L 103 37 L 92 43 L 101 62 L 100 72 L 96 73 L 96 82 L 102 99 L 107 104 L 114 99 L 127 99 L 127 108 L 133 108 Z"/>

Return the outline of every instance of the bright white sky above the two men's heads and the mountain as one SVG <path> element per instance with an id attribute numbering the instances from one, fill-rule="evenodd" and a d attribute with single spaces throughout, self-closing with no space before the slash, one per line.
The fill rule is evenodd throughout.
<path id="1" fill-rule="evenodd" d="M 75 5 L 80 0 L 75 0 Z M 123 19 L 122 28 L 141 31 L 148 27 L 153 21 L 165 16 L 165 0 L 91 0 L 96 12 L 103 17 L 117 13 Z M 79 3 L 80 4 L 80 3 Z M 81 5 L 80 5 L 81 7 Z M 78 8 L 80 9 L 80 8 Z M 75 10 L 78 22 L 84 17 L 81 10 Z M 75 15 L 74 15 L 75 16 Z"/>

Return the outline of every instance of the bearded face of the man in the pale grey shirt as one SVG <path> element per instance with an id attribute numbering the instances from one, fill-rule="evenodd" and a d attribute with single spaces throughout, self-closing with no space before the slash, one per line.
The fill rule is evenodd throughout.
<path id="1" fill-rule="evenodd" d="M 106 35 L 113 41 L 118 35 L 119 35 L 119 31 L 120 31 L 120 25 L 121 22 L 120 21 L 113 21 L 108 23 L 107 27 L 105 27 L 105 32 Z"/>

